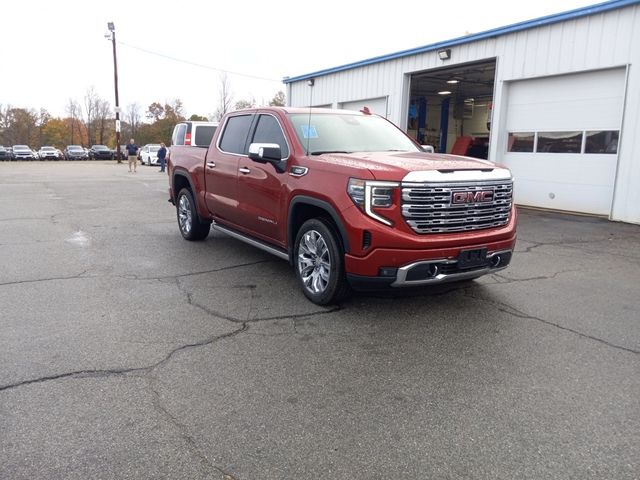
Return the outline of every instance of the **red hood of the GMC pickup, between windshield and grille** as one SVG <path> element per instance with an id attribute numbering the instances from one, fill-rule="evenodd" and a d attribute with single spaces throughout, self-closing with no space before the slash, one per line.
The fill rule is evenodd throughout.
<path id="1" fill-rule="evenodd" d="M 495 163 L 471 157 L 426 152 L 354 152 L 322 155 L 326 162 L 369 170 L 376 180 L 401 181 L 410 172 L 492 170 Z"/>

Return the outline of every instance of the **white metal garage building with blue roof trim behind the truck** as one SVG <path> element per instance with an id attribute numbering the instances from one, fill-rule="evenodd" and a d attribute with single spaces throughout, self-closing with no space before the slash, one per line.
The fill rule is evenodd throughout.
<path id="1" fill-rule="evenodd" d="M 519 205 L 640 223 L 640 0 L 285 78 L 289 105 L 387 117 L 508 166 Z"/>

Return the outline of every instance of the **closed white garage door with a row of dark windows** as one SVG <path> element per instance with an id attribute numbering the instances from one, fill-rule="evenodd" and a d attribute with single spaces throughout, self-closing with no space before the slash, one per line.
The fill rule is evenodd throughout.
<path id="1" fill-rule="evenodd" d="M 509 83 L 503 162 L 518 204 L 609 215 L 625 78 L 618 68 Z"/>

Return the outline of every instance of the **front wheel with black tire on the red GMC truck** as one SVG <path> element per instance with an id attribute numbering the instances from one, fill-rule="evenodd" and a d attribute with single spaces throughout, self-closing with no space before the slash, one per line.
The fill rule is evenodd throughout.
<path id="1" fill-rule="evenodd" d="M 335 229 L 327 220 L 307 220 L 296 235 L 296 277 L 305 296 L 317 305 L 334 303 L 349 292 L 344 254 Z"/>

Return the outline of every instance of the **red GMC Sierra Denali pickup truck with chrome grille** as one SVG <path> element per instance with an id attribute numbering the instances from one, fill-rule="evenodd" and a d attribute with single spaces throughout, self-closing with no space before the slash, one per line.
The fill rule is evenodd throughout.
<path id="1" fill-rule="evenodd" d="M 228 113 L 208 148 L 172 146 L 168 165 L 185 239 L 213 226 L 286 259 L 320 305 L 496 272 L 516 242 L 509 170 L 427 153 L 366 109 Z"/>

